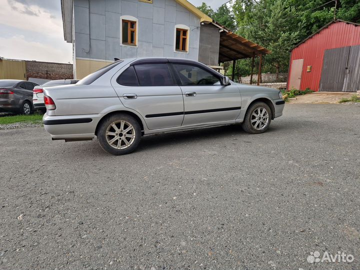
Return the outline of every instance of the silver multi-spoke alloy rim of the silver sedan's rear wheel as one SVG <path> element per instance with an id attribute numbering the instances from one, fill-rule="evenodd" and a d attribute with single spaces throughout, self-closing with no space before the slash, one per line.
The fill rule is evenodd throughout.
<path id="1" fill-rule="evenodd" d="M 105 131 L 107 143 L 115 149 L 128 148 L 134 142 L 135 136 L 135 128 L 125 120 L 110 123 Z"/>

